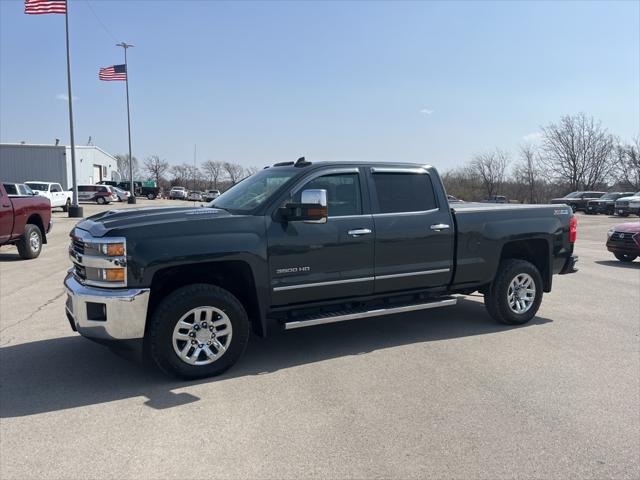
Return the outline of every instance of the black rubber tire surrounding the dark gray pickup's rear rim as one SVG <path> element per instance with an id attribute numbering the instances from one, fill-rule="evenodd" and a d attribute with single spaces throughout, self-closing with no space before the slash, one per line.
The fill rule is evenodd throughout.
<path id="1" fill-rule="evenodd" d="M 521 274 L 529 275 L 535 284 L 533 302 L 524 313 L 516 313 L 509 306 L 509 286 Z M 506 259 L 500 262 L 493 283 L 484 295 L 484 304 L 489 315 L 498 322 L 507 325 L 522 325 L 531 320 L 542 302 L 542 276 L 530 262 L 526 260 Z"/>

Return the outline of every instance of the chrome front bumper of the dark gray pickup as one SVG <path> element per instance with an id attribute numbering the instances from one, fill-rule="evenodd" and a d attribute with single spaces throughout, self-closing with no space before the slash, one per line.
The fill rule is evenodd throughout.
<path id="1" fill-rule="evenodd" d="M 104 340 L 144 337 L 148 288 L 109 290 L 82 285 L 71 271 L 64 279 L 66 312 L 80 335 Z"/>

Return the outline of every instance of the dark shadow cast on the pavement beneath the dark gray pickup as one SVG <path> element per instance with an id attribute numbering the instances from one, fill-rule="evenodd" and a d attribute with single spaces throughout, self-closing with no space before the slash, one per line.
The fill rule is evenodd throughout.
<path id="1" fill-rule="evenodd" d="M 489 317 L 481 303 L 461 300 L 456 307 L 429 312 L 277 332 L 266 339 L 252 338 L 245 356 L 227 373 L 186 382 L 79 336 L 8 345 L 0 348 L 0 418 L 139 396 L 148 398 L 144 402 L 148 407 L 167 409 L 200 400 L 189 393 L 174 393 L 172 389 L 264 375 L 396 346 L 500 334 L 551 322 L 535 317 L 519 327 L 501 325 Z"/>

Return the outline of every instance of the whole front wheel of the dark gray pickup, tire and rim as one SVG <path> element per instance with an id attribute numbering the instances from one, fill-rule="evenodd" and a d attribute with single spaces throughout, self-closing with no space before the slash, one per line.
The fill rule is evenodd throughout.
<path id="1" fill-rule="evenodd" d="M 149 351 L 165 372 L 181 378 L 219 375 L 244 353 L 247 313 L 231 293 L 193 284 L 166 297 L 151 316 Z"/>

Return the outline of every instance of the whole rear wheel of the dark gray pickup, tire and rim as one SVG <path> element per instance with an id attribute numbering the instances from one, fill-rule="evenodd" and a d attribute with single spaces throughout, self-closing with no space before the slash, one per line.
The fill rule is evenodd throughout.
<path id="1" fill-rule="evenodd" d="M 522 325 L 531 320 L 542 302 L 542 276 L 526 260 L 500 262 L 498 273 L 484 295 L 489 314 L 508 325 Z"/>

